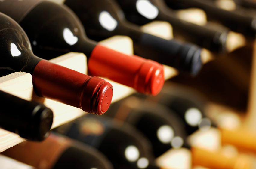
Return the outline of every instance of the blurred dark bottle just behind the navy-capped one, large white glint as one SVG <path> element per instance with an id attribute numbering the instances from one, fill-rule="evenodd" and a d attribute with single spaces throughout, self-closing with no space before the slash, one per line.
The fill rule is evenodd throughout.
<path id="1" fill-rule="evenodd" d="M 174 11 L 165 6 L 162 0 L 116 1 L 124 10 L 125 18 L 130 22 L 143 25 L 153 20 L 167 21 L 173 27 L 174 37 L 182 36 L 185 40 L 213 52 L 227 52 L 229 43 L 227 37 L 230 32 L 227 28 L 219 29 L 209 24 L 200 26 L 181 20 Z"/>

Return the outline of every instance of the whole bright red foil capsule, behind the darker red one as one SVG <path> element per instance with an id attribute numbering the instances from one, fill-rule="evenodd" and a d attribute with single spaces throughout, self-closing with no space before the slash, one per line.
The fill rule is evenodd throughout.
<path id="1" fill-rule="evenodd" d="M 88 70 L 94 76 L 107 77 L 153 96 L 160 92 L 165 81 L 163 66 L 158 62 L 125 55 L 101 45 L 93 49 Z"/>

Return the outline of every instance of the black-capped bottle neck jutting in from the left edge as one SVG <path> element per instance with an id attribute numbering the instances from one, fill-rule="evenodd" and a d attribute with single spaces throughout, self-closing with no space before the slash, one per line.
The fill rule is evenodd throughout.
<path id="1" fill-rule="evenodd" d="M 48 137 L 53 112 L 45 105 L 0 90 L 0 127 L 32 141 Z"/>

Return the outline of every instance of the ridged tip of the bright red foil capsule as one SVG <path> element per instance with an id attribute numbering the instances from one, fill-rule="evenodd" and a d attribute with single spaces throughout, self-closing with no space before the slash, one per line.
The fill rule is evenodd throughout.
<path id="1" fill-rule="evenodd" d="M 156 96 L 164 85 L 163 66 L 150 59 L 146 60 L 135 78 L 135 89 L 143 94 Z"/>

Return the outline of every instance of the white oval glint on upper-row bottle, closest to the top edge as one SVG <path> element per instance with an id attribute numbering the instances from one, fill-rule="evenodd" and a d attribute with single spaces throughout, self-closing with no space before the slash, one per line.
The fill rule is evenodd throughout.
<path id="1" fill-rule="evenodd" d="M 159 13 L 158 9 L 148 0 L 137 0 L 136 8 L 137 11 L 147 19 L 155 19 Z"/>

